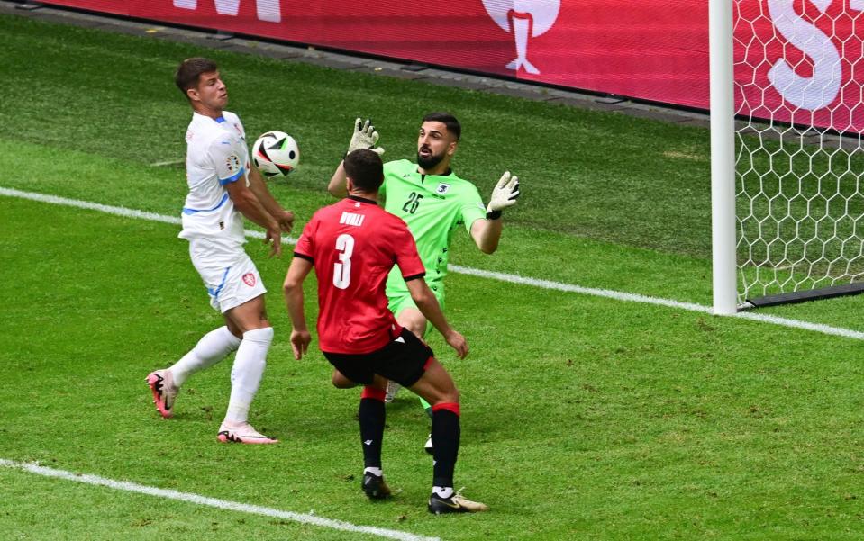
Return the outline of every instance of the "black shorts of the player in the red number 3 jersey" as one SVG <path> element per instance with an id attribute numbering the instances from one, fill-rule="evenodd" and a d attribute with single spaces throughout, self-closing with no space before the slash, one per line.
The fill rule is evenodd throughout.
<path id="1" fill-rule="evenodd" d="M 375 374 L 378 374 L 403 387 L 411 387 L 417 383 L 425 373 L 426 362 L 435 356 L 432 349 L 408 329 L 402 329 L 402 333 L 387 346 L 371 353 L 324 351 L 323 354 L 336 370 L 354 383 L 370 385 Z"/>

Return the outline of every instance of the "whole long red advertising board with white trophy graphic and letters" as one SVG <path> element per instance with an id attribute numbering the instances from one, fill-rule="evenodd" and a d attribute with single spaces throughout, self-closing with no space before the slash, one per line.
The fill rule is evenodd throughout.
<path id="1" fill-rule="evenodd" d="M 706 0 L 59 0 L 707 109 Z M 731 0 L 738 112 L 864 131 L 864 0 Z M 861 19 L 864 22 L 864 18 Z"/>

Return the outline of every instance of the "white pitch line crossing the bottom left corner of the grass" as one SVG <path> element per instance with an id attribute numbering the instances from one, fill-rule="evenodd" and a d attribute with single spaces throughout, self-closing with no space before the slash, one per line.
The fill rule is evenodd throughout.
<path id="1" fill-rule="evenodd" d="M 342 520 L 318 517 L 313 513 L 293 513 L 291 511 L 283 511 L 280 509 L 261 507 L 259 505 L 249 505 L 246 503 L 240 503 L 238 501 L 218 500 L 216 498 L 208 498 L 206 496 L 193 494 L 191 492 L 171 491 L 168 489 L 159 489 L 157 487 L 138 484 L 137 482 L 114 481 L 113 479 L 106 479 L 105 477 L 99 477 L 98 475 L 89 475 L 83 473 L 67 472 L 65 470 L 56 470 L 54 468 L 47 468 L 39 464 L 27 464 L 0 458 L 0 466 L 12 468 L 14 470 L 21 470 L 27 473 L 34 473 L 43 477 L 54 477 L 57 479 L 64 479 L 66 481 L 83 482 L 85 484 L 103 486 L 109 489 L 114 489 L 115 491 L 136 492 L 139 494 L 147 494 L 148 496 L 155 496 L 157 498 L 163 498 L 167 500 L 186 501 L 187 503 L 214 507 L 216 509 L 227 509 L 240 513 L 248 513 L 250 515 L 281 518 L 283 520 L 290 520 L 292 522 L 297 522 L 300 524 L 310 524 L 312 526 L 327 527 L 330 529 L 346 532 L 386 537 L 387 539 L 398 539 L 400 541 L 441 541 L 439 537 L 417 536 L 408 532 L 401 532 L 399 530 L 387 529 L 383 527 L 357 526 L 355 524 L 351 524 L 350 522 L 344 522 Z"/>

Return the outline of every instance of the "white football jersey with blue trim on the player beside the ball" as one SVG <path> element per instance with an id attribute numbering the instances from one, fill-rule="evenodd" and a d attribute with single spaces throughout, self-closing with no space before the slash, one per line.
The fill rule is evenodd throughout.
<path id="1" fill-rule="evenodd" d="M 186 131 L 186 181 L 182 239 L 208 237 L 242 244 L 243 216 L 226 185 L 249 185 L 249 149 L 240 118 L 228 111 L 218 119 L 192 113 Z"/>

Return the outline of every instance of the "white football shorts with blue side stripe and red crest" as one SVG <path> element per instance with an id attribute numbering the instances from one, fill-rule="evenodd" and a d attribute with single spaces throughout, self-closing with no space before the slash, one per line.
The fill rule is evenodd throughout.
<path id="1" fill-rule="evenodd" d="M 267 293 L 258 269 L 242 245 L 212 239 L 189 239 L 189 257 L 204 280 L 210 305 L 225 313 L 243 302 Z"/>

